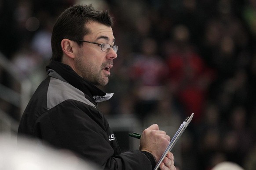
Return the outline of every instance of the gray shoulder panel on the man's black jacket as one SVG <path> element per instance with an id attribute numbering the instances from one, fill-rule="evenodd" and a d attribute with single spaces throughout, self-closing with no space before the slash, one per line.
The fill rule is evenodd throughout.
<path id="1" fill-rule="evenodd" d="M 96 107 L 95 104 L 91 103 L 84 97 L 84 93 L 82 91 L 73 87 L 67 82 L 51 77 L 47 92 L 48 110 L 68 99 L 77 100 L 90 106 Z"/>

